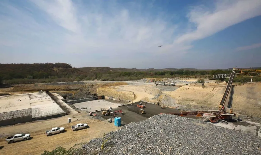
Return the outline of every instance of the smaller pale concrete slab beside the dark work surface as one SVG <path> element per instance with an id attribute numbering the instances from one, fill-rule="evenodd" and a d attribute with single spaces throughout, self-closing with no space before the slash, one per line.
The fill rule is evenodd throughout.
<path id="1" fill-rule="evenodd" d="M 87 109 L 82 109 L 86 111 L 89 111 L 91 108 L 91 111 L 94 112 L 95 110 L 100 111 L 101 109 L 109 109 L 109 107 L 118 108 L 118 106 L 121 106 L 122 104 L 114 103 L 113 101 L 110 100 L 98 99 L 93 101 L 74 103 L 73 105 L 79 109 L 81 109 L 82 107 L 86 107 Z"/>

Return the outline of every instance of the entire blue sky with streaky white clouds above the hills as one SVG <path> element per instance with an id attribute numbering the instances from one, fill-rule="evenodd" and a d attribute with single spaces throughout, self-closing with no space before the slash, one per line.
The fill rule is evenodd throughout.
<path id="1" fill-rule="evenodd" d="M 0 63 L 261 67 L 260 15 L 260 0 L 1 0 Z"/>

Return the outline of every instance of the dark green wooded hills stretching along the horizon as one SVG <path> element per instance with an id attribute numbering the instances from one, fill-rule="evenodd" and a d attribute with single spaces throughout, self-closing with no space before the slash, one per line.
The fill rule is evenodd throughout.
<path id="1" fill-rule="evenodd" d="M 258 69 L 258 67 L 252 69 Z M 102 81 L 127 81 L 142 78 L 228 74 L 231 73 L 231 70 L 232 68 L 217 70 L 196 68 L 73 68 L 66 63 L 0 64 L 0 85 L 2 83 L 46 83 L 95 79 Z M 244 81 L 247 81 L 247 79 Z"/>

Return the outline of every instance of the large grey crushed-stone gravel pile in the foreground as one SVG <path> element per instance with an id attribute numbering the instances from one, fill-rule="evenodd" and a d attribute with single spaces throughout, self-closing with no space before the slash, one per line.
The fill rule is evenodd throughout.
<path id="1" fill-rule="evenodd" d="M 104 149 L 102 143 L 108 140 Z M 130 123 L 101 139 L 92 139 L 76 154 L 261 154 L 261 139 L 199 120 L 156 115 Z"/>

